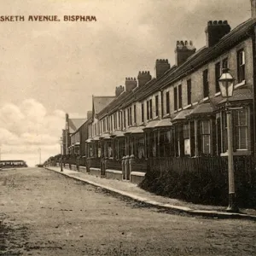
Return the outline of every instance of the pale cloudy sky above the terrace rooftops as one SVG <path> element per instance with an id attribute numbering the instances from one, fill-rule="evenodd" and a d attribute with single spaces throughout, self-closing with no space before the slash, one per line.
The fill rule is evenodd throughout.
<path id="1" fill-rule="evenodd" d="M 0 0 L 0 145 L 2 160 L 38 164 L 60 154 L 65 113 L 84 118 L 91 96 L 113 96 L 125 77 L 175 64 L 177 40 L 206 43 L 208 20 L 231 28 L 251 16 L 250 0 Z M 58 15 L 61 21 L 27 21 Z M 96 21 L 64 21 L 93 15 Z"/>

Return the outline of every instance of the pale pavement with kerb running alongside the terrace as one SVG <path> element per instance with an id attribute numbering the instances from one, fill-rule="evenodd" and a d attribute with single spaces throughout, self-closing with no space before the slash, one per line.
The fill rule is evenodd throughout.
<path id="1" fill-rule="evenodd" d="M 187 213 L 189 215 L 197 215 L 208 218 L 246 218 L 256 221 L 256 209 L 240 209 L 240 212 L 226 212 L 226 207 L 207 206 L 194 204 L 187 201 L 181 201 L 165 196 L 154 195 L 148 191 L 140 189 L 137 184 L 107 179 L 105 177 L 96 177 L 87 172 L 77 172 L 60 167 L 45 167 L 45 169 L 53 172 L 59 172 L 62 175 L 73 179 L 90 183 L 93 186 L 107 189 L 117 195 L 125 196 L 134 201 L 141 202 L 151 207 L 166 209 L 168 212 Z"/>

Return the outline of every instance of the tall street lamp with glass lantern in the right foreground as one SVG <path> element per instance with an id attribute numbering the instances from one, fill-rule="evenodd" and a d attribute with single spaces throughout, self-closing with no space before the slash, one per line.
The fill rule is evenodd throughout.
<path id="1" fill-rule="evenodd" d="M 227 135 L 228 135 L 228 163 L 229 163 L 229 207 L 228 212 L 238 212 L 236 204 L 235 177 L 234 177 L 234 162 L 233 162 L 233 132 L 232 132 L 232 117 L 229 98 L 233 96 L 234 79 L 229 73 L 229 68 L 224 68 L 221 77 L 218 79 L 221 95 L 226 98 L 225 111 L 227 113 Z"/>

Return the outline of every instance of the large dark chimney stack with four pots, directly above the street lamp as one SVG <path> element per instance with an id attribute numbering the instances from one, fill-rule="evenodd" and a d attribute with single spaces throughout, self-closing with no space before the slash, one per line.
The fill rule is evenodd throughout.
<path id="1" fill-rule="evenodd" d="M 224 37 L 224 35 L 230 32 L 230 25 L 227 20 L 210 20 L 208 21 L 206 28 L 207 35 L 207 47 L 212 47 L 217 44 L 218 41 Z"/>

